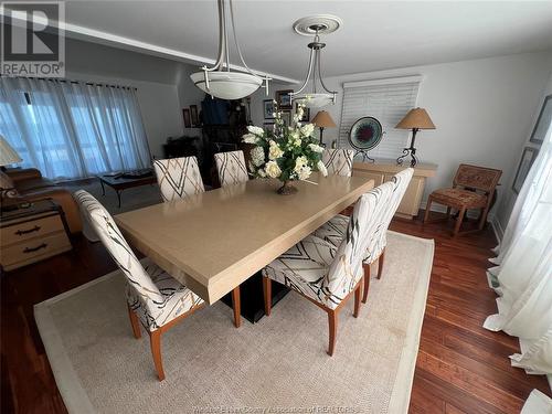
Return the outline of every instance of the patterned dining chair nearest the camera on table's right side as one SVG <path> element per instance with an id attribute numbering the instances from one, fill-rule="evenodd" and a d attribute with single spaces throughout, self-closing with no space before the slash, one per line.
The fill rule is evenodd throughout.
<path id="1" fill-rule="evenodd" d="M 362 259 L 378 233 L 379 220 L 391 199 L 388 182 L 361 195 L 339 246 L 309 235 L 263 269 L 265 314 L 270 315 L 272 280 L 297 291 L 328 314 L 328 354 L 336 349 L 338 312 L 354 293 L 353 316 L 359 316 L 363 279 Z"/>

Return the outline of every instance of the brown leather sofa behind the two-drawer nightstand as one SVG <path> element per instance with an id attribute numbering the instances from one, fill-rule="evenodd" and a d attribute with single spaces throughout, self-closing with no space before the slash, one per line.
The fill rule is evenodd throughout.
<path id="1" fill-rule="evenodd" d="M 71 191 L 63 185 L 42 177 L 42 173 L 34 168 L 11 169 L 0 171 L 0 174 L 2 187 L 15 190 L 10 193 L 11 197 L 21 198 L 29 202 L 52 199 L 63 209 L 71 233 L 82 231 L 83 224 L 78 206 Z"/>

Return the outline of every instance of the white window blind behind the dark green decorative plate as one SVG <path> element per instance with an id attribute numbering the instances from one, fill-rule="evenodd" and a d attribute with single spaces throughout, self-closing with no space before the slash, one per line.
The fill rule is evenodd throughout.
<path id="1" fill-rule="evenodd" d="M 407 146 L 408 131 L 395 129 L 395 125 L 416 106 L 422 76 L 407 76 L 343 84 L 339 147 L 349 147 L 352 125 L 364 116 L 378 119 L 382 127 L 382 140 L 369 152 L 372 158 L 396 158 Z"/>

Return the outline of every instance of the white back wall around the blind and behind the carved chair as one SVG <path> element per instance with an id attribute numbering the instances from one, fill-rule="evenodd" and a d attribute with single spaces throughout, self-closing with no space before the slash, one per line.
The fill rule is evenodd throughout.
<path id="1" fill-rule="evenodd" d="M 503 171 L 496 213 L 502 211 L 551 68 L 549 51 L 330 77 L 326 83 L 340 94 L 326 109 L 339 125 L 343 82 L 422 75 L 417 105 L 427 109 L 437 129 L 418 132 L 417 155 L 422 162 L 438 164 L 422 205 L 429 192 L 449 187 L 458 164 L 467 162 Z M 338 131 L 326 129 L 325 141 L 337 139 Z M 501 224 L 506 215 L 500 214 Z"/>

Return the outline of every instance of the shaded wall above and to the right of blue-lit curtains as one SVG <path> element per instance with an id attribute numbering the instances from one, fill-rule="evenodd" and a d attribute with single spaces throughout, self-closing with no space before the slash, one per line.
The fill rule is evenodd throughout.
<path id="1" fill-rule="evenodd" d="M 162 158 L 162 144 L 168 137 L 182 135 L 183 130 L 177 87 L 178 74 L 183 65 L 71 39 L 66 46 L 67 78 L 137 88 L 151 155 Z"/>

